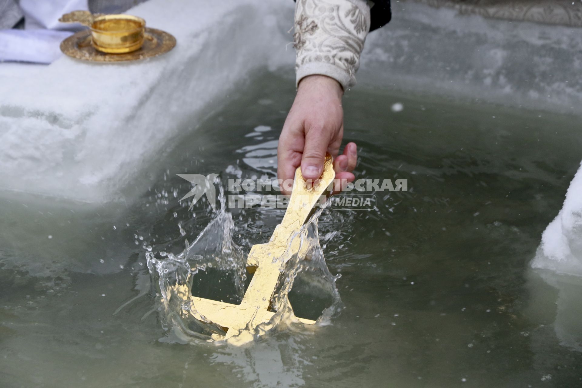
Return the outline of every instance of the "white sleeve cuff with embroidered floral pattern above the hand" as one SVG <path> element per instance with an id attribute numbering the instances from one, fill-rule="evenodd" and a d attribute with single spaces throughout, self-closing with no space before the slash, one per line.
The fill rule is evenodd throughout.
<path id="1" fill-rule="evenodd" d="M 370 6 L 365 0 L 297 0 L 296 85 L 303 77 L 323 74 L 344 90 L 354 86 L 369 30 Z"/>

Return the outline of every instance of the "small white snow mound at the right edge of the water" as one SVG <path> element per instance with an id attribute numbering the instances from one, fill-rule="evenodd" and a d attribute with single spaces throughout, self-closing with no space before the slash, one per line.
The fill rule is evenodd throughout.
<path id="1" fill-rule="evenodd" d="M 562 210 L 542 234 L 531 266 L 582 276 L 582 165 L 570 183 Z"/>

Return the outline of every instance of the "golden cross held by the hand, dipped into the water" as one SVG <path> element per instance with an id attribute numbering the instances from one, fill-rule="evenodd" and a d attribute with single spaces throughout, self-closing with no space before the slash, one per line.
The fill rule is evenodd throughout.
<path id="1" fill-rule="evenodd" d="M 275 227 L 275 232 L 268 243 L 256 244 L 251 247 L 247 257 L 247 270 L 254 273 L 254 276 L 240 305 L 183 295 L 184 292 L 187 292 L 187 288 L 176 290 L 181 291 L 180 294 L 183 297 L 191 299 L 196 311 L 190 310 L 190 314 L 201 321 L 216 323 L 226 330 L 225 336 L 212 334 L 213 339 L 225 340 L 247 327 L 254 329 L 261 323 L 269 322 L 275 314 L 270 310 L 271 300 L 279 276 L 281 276 L 285 266 L 285 262 L 282 262 L 280 258 L 287 249 L 292 253 L 298 252 L 300 249 L 299 239 L 293 239 L 289 242 L 289 237 L 299 232 L 301 226 L 307 222 L 313 207 L 321 195 L 325 193 L 334 177 L 333 158 L 329 154 L 325 157 L 324 170 L 320 179 L 313 184 L 308 184 L 301 175 L 301 168 L 297 168 L 293 190 L 282 222 Z M 288 244 L 290 244 L 289 247 Z M 291 256 L 289 255 L 289 257 Z M 315 323 L 310 319 L 297 319 L 306 324 Z M 248 338 L 241 338 L 239 342 L 248 340 Z"/>

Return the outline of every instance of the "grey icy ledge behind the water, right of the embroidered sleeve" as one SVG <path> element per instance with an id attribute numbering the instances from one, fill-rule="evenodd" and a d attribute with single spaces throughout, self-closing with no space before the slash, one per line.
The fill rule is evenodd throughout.
<path id="1" fill-rule="evenodd" d="M 579 114 L 579 28 L 457 15 L 392 2 L 388 27 L 368 35 L 359 87 L 396 88 Z"/>

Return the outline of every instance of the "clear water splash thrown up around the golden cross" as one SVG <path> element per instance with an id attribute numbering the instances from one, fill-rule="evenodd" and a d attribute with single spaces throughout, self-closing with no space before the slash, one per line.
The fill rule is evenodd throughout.
<path id="1" fill-rule="evenodd" d="M 240 304 L 250 280 L 246 254 L 233 240 L 235 223 L 225 210 L 222 188 L 219 198 L 221 207 L 214 218 L 179 255 L 146 252 L 162 327 L 182 343 L 210 341 L 212 334 L 226 333 L 225 328 L 198 314 L 191 296 Z M 249 337 L 281 330 L 305 331 L 309 325 L 300 323 L 296 315 L 327 325 L 338 314 L 342 308 L 335 287 L 339 275 L 333 276 L 325 264 L 317 230 L 317 219 L 324 208 L 289 237 L 288 248 L 281 257 L 273 258 L 274 262 L 285 263 L 272 299 L 274 316 L 254 329 L 240 330 L 237 336 L 244 334 L 245 341 L 249 341 Z M 293 246 L 299 246 L 299 250 Z M 237 336 L 233 341 L 240 340 Z"/>

